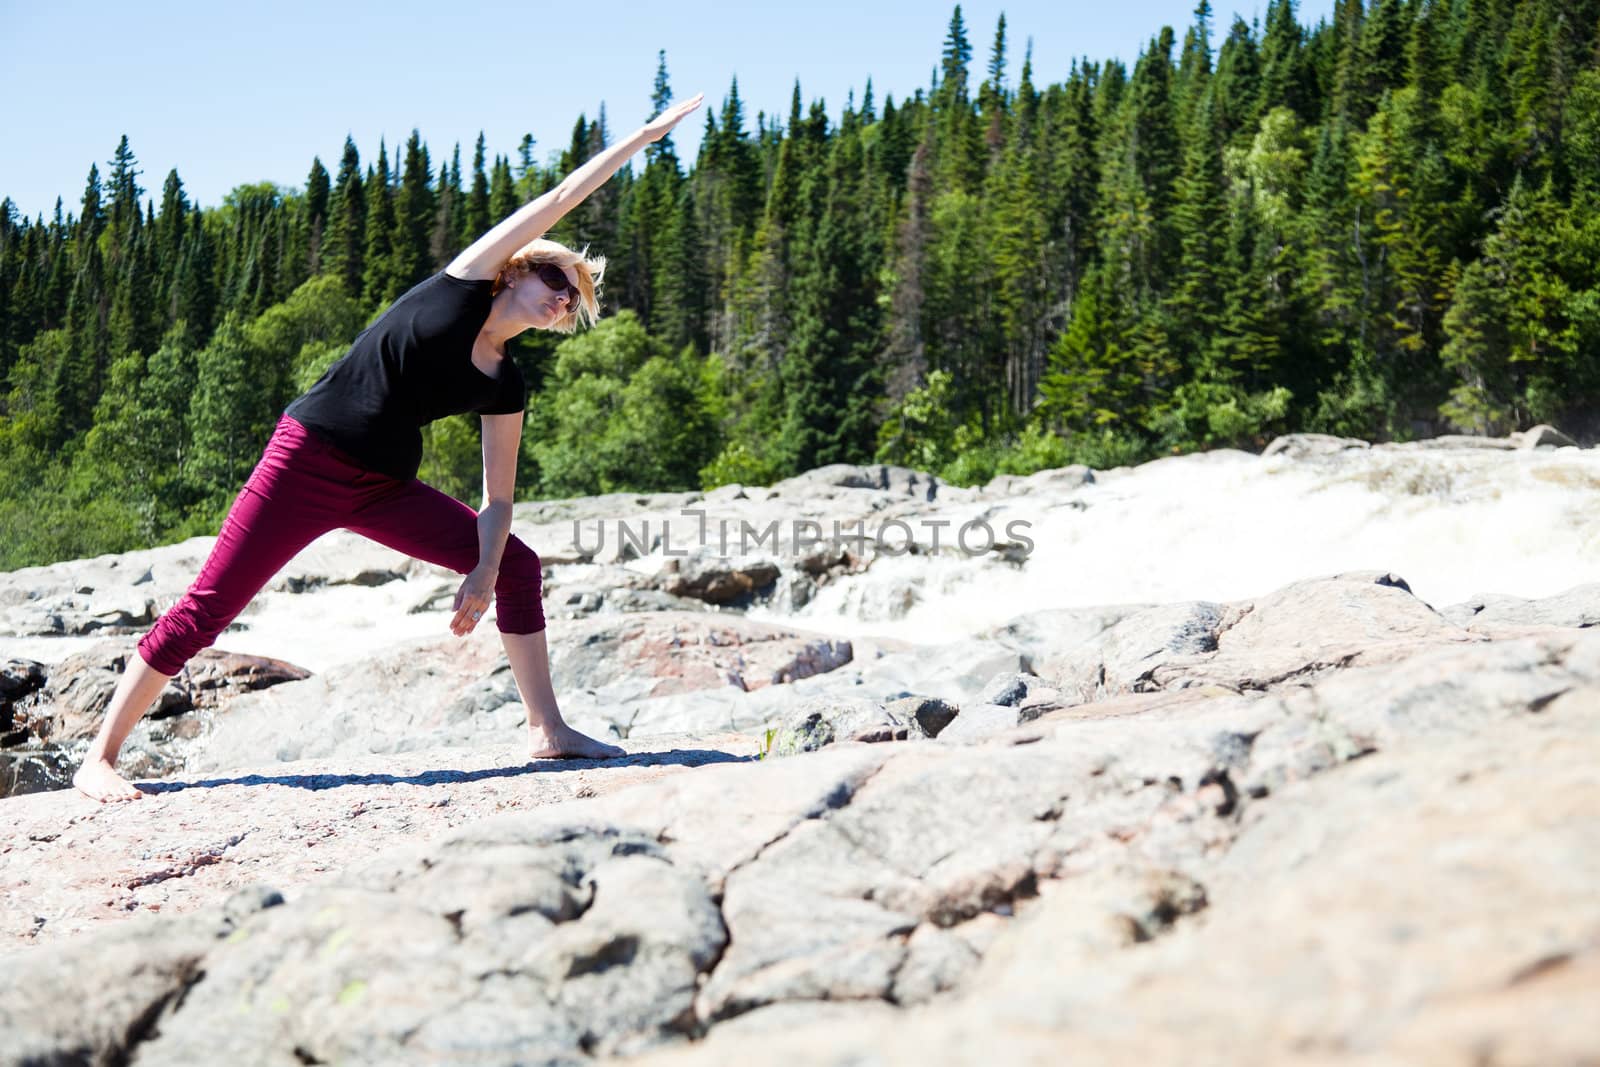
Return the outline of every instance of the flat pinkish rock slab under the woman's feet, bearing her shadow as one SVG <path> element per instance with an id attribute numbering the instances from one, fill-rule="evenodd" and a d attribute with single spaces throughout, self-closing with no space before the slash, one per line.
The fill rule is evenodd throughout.
<path id="1" fill-rule="evenodd" d="M 142 800 L 74 792 L 0 801 L 0 955 L 147 913 L 278 889 L 504 811 L 600 797 L 691 766 L 749 760 L 738 734 L 656 737 L 610 761 L 539 760 L 517 745 L 304 760 L 142 782 Z"/>

